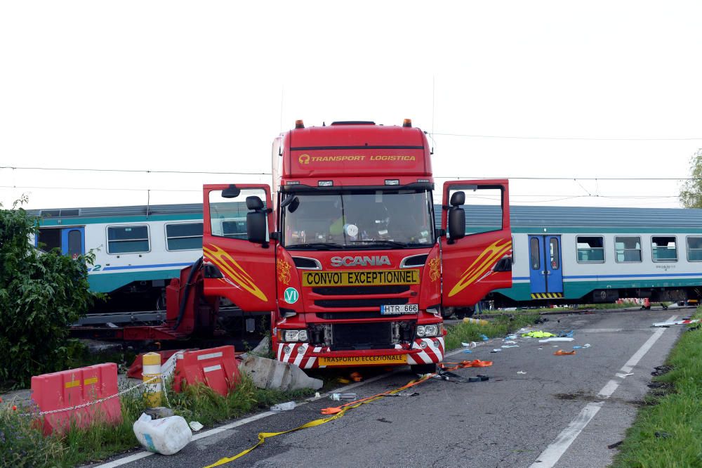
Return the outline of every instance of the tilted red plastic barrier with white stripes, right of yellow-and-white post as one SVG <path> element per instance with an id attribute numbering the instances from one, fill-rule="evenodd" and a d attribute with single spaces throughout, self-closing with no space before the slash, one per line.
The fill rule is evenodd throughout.
<path id="1" fill-rule="evenodd" d="M 185 351 L 176 361 L 173 390 L 180 392 L 183 382 L 204 383 L 218 394 L 227 396 L 239 382 L 239 361 L 234 346 Z"/>

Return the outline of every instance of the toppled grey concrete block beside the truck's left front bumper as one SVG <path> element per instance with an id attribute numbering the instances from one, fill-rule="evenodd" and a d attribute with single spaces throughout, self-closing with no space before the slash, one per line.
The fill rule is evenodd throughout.
<path id="1" fill-rule="evenodd" d="M 239 365 L 241 372 L 246 372 L 259 389 L 275 390 L 319 390 L 324 382 L 308 377 L 298 366 L 282 363 L 279 360 L 249 356 Z"/>

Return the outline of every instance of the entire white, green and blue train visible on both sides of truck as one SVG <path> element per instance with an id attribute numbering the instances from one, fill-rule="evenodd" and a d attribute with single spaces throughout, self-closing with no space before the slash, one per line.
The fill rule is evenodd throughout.
<path id="1" fill-rule="evenodd" d="M 512 283 L 496 306 L 699 299 L 702 210 L 593 207 L 511 209 Z M 437 218 L 442 210 L 435 207 Z M 466 233 L 500 228 L 499 207 L 465 206 Z M 112 308 L 163 308 L 166 282 L 201 256 L 202 205 L 34 210 L 35 245 L 95 249 L 91 288 Z M 223 235 L 245 238 L 246 209 L 223 214 Z M 439 225 L 440 219 L 437 219 Z M 466 265 L 466 268 L 469 266 Z M 467 304 L 468 305 L 468 304 Z M 470 304 L 472 305 L 472 304 Z"/>

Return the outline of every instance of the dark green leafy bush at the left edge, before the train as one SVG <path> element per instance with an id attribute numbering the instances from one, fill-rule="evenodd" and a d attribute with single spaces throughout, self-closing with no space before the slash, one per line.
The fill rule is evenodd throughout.
<path id="1" fill-rule="evenodd" d="M 0 385 L 27 386 L 32 375 L 63 370 L 68 327 L 86 313 L 92 253 L 70 259 L 29 243 L 39 220 L 21 205 L 0 204 Z"/>

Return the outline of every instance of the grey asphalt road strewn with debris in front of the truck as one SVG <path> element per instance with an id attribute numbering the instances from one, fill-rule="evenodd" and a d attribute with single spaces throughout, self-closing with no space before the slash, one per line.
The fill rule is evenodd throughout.
<path id="1" fill-rule="evenodd" d="M 652 328 L 651 323 L 690 313 L 692 309 L 671 308 L 550 316 L 541 330 L 574 330 L 574 342 L 539 344 L 519 338 L 518 348 L 490 353 L 503 344 L 493 339 L 470 354 L 459 351 L 446 360 L 492 360 L 494 365 L 456 373 L 483 373 L 489 381 L 432 379 L 414 387 L 416 396 L 385 397 L 338 420 L 270 438 L 225 466 L 605 467 L 616 453 L 607 446 L 624 437 L 648 391 L 651 371 L 684 331 L 680 326 Z M 574 356 L 554 355 L 557 349 L 583 344 L 590 347 L 577 349 Z M 412 378 L 403 370 L 350 391 L 371 396 Z M 332 405 L 322 398 L 292 411 L 264 413 L 248 424 L 234 422 L 241 425 L 198 434 L 176 455 L 152 455 L 121 466 L 204 467 L 253 446 L 259 432 L 293 429 L 322 417 L 320 410 Z"/>

